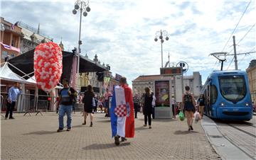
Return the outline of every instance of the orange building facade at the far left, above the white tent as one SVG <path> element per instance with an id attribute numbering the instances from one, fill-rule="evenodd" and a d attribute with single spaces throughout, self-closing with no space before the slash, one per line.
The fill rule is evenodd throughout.
<path id="1" fill-rule="evenodd" d="M 21 28 L 1 17 L 1 62 L 21 54 Z"/>

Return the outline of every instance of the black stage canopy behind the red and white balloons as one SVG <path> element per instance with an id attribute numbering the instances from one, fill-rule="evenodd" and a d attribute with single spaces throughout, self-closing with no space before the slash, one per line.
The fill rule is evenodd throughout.
<path id="1" fill-rule="evenodd" d="M 22 72 L 26 74 L 30 74 L 31 72 L 33 72 L 33 55 L 34 55 L 34 50 L 30 50 L 26 53 L 23 53 L 22 55 L 18 55 L 17 57 L 9 59 L 8 62 L 13 64 L 18 69 L 21 69 Z M 63 75 L 61 76 L 61 79 L 63 79 L 64 77 L 67 79 L 70 79 L 73 56 L 75 56 L 73 52 L 63 51 Z M 17 69 L 15 69 L 14 67 L 11 67 L 11 65 L 9 65 L 9 67 L 16 74 L 20 74 L 20 76 L 23 76 L 21 75 L 21 72 L 18 72 Z M 100 64 L 97 64 L 96 62 L 84 56 L 80 56 L 80 64 L 79 64 L 80 73 L 104 72 L 106 70 L 107 70 L 106 67 Z M 27 76 L 24 78 L 28 79 L 29 77 Z"/>

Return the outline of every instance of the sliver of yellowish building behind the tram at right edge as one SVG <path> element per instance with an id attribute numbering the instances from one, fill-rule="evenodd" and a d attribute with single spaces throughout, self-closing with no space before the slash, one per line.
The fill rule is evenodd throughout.
<path id="1" fill-rule="evenodd" d="M 249 79 L 252 102 L 256 105 L 256 59 L 252 59 L 246 72 Z"/>

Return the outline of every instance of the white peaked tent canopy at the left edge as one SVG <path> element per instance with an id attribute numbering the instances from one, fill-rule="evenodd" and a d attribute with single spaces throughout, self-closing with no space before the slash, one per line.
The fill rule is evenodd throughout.
<path id="1" fill-rule="evenodd" d="M 18 74 L 12 72 L 8 67 L 8 62 L 5 62 L 4 66 L 0 68 L 0 79 L 6 81 L 17 81 L 22 84 L 35 84 L 33 82 L 26 81 L 26 79 L 23 79 L 21 76 L 18 76 Z"/>

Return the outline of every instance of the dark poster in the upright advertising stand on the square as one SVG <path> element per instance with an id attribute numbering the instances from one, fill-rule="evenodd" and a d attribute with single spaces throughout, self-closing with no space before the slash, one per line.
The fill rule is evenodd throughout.
<path id="1" fill-rule="evenodd" d="M 155 81 L 156 107 L 170 107 L 169 81 Z"/>

